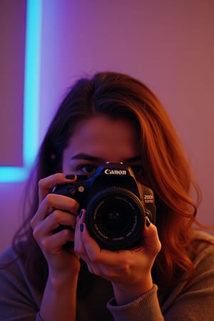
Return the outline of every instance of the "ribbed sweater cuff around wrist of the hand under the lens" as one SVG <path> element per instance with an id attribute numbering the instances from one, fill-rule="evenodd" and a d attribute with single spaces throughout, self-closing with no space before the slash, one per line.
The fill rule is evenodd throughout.
<path id="1" fill-rule="evenodd" d="M 114 299 L 107 304 L 116 321 L 163 321 L 157 296 L 158 287 L 142 295 L 137 300 L 118 306 Z"/>

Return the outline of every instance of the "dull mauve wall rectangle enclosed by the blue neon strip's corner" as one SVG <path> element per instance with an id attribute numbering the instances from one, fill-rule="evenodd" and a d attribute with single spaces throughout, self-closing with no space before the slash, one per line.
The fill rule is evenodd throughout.
<path id="1" fill-rule="evenodd" d="M 1 1 L 0 166 L 22 165 L 25 17 L 26 0 Z"/>

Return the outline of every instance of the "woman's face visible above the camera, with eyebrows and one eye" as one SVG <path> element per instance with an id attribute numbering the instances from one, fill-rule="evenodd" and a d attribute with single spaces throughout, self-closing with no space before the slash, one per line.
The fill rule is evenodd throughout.
<path id="1" fill-rule="evenodd" d="M 81 121 L 63 152 L 63 173 L 93 175 L 106 162 L 129 165 L 141 174 L 139 137 L 133 123 L 96 116 Z"/>

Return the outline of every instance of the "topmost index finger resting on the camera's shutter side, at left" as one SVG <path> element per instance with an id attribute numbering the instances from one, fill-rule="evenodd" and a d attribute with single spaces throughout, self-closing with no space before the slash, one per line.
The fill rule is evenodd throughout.
<path id="1" fill-rule="evenodd" d="M 46 178 L 42 178 L 41 180 L 39 180 L 39 203 L 41 203 L 41 201 L 46 197 L 47 194 L 51 193 L 54 186 L 66 182 L 74 182 L 75 180 L 76 175 L 73 179 L 68 179 L 63 173 L 56 173 Z"/>

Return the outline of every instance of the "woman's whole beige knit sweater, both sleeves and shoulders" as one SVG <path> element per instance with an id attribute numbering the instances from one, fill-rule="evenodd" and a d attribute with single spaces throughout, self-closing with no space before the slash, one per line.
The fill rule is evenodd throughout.
<path id="1" fill-rule="evenodd" d="M 105 307 L 99 304 L 99 295 L 85 308 L 80 302 L 78 321 L 214 321 L 214 238 L 200 231 L 195 231 L 194 238 L 198 255 L 190 253 L 195 266 L 190 282 L 179 283 L 168 294 L 158 292 L 154 285 L 146 295 L 123 306 L 117 306 L 114 299 L 108 301 L 109 288 L 101 285 Z M 12 258 L 9 248 L 0 255 L 0 265 Z M 40 321 L 41 298 L 42 293 L 27 280 L 20 260 L 0 269 L 0 321 Z"/>

